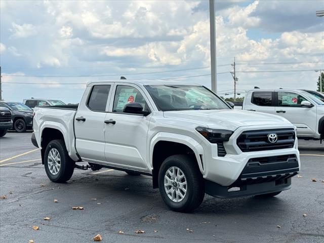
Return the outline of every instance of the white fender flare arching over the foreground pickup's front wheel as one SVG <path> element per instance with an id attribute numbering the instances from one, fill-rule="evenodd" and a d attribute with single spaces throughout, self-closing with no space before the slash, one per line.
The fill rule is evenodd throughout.
<path id="1" fill-rule="evenodd" d="M 166 132 L 159 132 L 155 134 L 149 143 L 149 161 L 148 165 L 151 170 L 153 170 L 153 151 L 154 146 L 159 141 L 169 141 L 169 142 L 175 142 L 175 143 L 181 143 L 186 146 L 188 146 L 195 154 L 198 167 L 201 174 L 205 174 L 203 161 L 201 161 L 200 154 L 204 154 L 203 146 L 200 145 L 201 141 L 196 141 L 193 138 L 186 136 L 186 135 L 180 135 L 180 134 L 174 134 L 174 133 L 166 133 Z"/>

